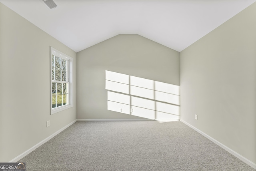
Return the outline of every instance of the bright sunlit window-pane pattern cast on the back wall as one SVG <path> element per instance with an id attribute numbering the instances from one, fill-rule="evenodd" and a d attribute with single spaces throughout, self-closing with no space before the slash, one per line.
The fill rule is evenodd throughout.
<path id="1" fill-rule="evenodd" d="M 180 119 L 178 85 L 106 71 L 106 89 L 108 110 L 156 121 Z"/>

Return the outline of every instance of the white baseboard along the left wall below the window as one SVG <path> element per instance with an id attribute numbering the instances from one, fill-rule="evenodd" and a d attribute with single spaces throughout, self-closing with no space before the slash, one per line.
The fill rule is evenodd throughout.
<path id="1" fill-rule="evenodd" d="M 56 136 L 58 133 L 60 133 L 61 131 L 63 131 L 64 129 L 66 129 L 67 127 L 69 127 L 70 125 L 72 125 L 73 123 L 75 123 L 76 120 L 72 121 L 71 123 L 69 123 L 68 125 L 64 126 L 63 128 L 59 129 L 58 131 L 56 131 L 55 133 L 53 133 L 52 135 L 50 135 L 49 137 L 47 137 L 46 139 L 40 141 L 39 143 L 37 143 L 36 145 L 34 145 L 33 147 L 31 147 L 30 149 L 28 149 L 27 151 L 21 153 L 20 155 L 18 155 L 17 157 L 15 157 L 14 159 L 10 160 L 9 162 L 17 162 L 20 159 L 22 159 L 23 157 L 25 157 L 26 155 L 28 155 L 29 153 L 31 153 L 32 151 L 34 151 L 36 148 L 40 147 L 41 145 L 43 145 L 44 143 L 46 143 L 47 141 L 49 141 L 50 139 L 52 139 L 54 136 Z"/>

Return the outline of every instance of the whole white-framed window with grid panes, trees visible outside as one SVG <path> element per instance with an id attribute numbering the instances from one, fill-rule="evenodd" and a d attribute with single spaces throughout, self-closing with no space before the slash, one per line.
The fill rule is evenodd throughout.
<path id="1" fill-rule="evenodd" d="M 73 58 L 51 47 L 51 114 L 72 107 Z"/>

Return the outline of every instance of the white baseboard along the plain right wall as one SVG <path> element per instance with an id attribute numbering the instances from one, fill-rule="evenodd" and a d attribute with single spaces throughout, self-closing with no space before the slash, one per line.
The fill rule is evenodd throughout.
<path id="1" fill-rule="evenodd" d="M 216 139 L 210 137 L 209 135 L 207 135 L 206 133 L 200 131 L 199 129 L 197 129 L 196 127 L 190 125 L 189 123 L 187 123 L 186 121 L 180 119 L 180 121 L 182 121 L 183 123 L 185 123 L 186 125 L 188 125 L 189 127 L 191 127 L 192 129 L 194 129 L 195 131 L 197 131 L 198 133 L 202 134 L 204 137 L 210 139 L 210 141 L 214 142 L 215 144 L 217 144 L 218 146 L 222 147 L 224 150 L 228 151 L 230 154 L 234 155 L 235 157 L 237 157 L 238 159 L 242 160 L 244 163 L 250 165 L 252 168 L 256 169 L 256 163 L 253 163 L 252 161 L 250 161 L 249 159 L 246 159 L 244 156 L 240 155 L 239 153 L 237 153 L 236 151 L 230 149 L 229 147 L 227 147 L 226 145 L 220 143 L 219 141 L 217 141 Z"/>

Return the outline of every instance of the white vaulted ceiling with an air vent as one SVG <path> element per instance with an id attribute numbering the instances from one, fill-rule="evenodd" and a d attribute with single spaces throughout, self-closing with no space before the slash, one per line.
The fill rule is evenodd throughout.
<path id="1" fill-rule="evenodd" d="M 118 34 L 139 34 L 182 51 L 256 0 L 0 0 L 79 52 Z"/>

